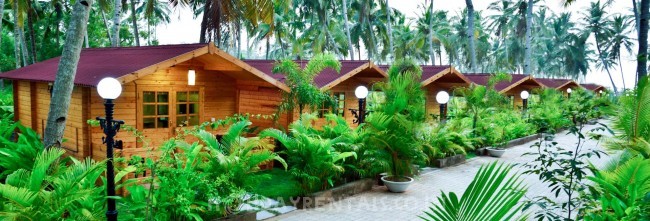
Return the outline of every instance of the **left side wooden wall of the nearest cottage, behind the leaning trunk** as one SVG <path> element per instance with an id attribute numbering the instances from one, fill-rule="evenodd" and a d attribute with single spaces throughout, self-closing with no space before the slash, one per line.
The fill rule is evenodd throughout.
<path id="1" fill-rule="evenodd" d="M 16 105 L 17 116 L 23 125 L 32 128 L 38 132 L 41 137 L 47 124 L 47 115 L 50 109 L 51 95 L 48 83 L 16 81 L 17 96 Z M 66 154 L 77 158 L 84 158 L 90 155 L 89 137 L 86 130 L 87 113 L 85 102 L 88 101 L 88 91 L 90 88 L 75 86 L 72 91 L 70 100 L 70 109 L 66 119 L 66 128 L 64 131 L 63 148 Z"/>

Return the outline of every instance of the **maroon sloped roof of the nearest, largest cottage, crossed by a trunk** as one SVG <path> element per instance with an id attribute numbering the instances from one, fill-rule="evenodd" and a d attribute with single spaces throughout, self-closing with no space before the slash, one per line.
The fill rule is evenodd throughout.
<path id="1" fill-rule="evenodd" d="M 207 44 L 82 49 L 74 83 L 94 87 L 102 78 L 119 78 Z M 13 80 L 53 82 L 60 57 L 0 74 Z"/>

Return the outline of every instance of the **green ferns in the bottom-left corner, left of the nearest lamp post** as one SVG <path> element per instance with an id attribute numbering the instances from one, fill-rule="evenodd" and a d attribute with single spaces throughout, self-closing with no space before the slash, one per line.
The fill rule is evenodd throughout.
<path id="1" fill-rule="evenodd" d="M 9 220 L 105 219 L 104 162 L 61 160 L 64 150 L 51 148 L 33 158 L 33 166 L 18 169 L 0 184 L 0 215 Z M 133 168 L 118 172 L 120 180 Z M 120 188 L 123 184 L 117 185 Z"/>

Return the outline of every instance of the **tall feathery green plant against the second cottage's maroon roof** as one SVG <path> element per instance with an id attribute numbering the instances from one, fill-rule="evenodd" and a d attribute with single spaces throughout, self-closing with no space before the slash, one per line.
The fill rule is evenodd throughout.
<path id="1" fill-rule="evenodd" d="M 335 105 L 334 99 L 327 93 L 323 93 L 314 84 L 314 78 L 326 68 L 331 68 L 337 72 L 341 71 L 341 63 L 332 54 L 319 54 L 314 56 L 305 67 L 293 60 L 285 59 L 273 67 L 273 73 L 281 73 L 286 76 L 285 83 L 291 89 L 284 92 L 282 103 L 279 106 L 279 112 L 289 112 L 298 107 L 299 113 L 302 114 L 305 107 L 316 108 L 326 103 L 330 106 Z"/>

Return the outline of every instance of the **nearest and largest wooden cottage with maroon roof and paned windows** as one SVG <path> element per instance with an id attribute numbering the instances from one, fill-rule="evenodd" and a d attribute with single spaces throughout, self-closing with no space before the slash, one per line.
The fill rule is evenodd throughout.
<path id="1" fill-rule="evenodd" d="M 3 73 L 13 80 L 15 118 L 43 133 L 59 58 Z M 194 70 L 194 85 L 188 72 Z M 76 157 L 106 156 L 99 127 L 86 121 L 104 116 L 103 100 L 95 85 L 105 77 L 122 83 L 115 100 L 115 118 L 144 133 L 149 145 L 136 142 L 129 132 L 122 154 L 144 155 L 149 147 L 177 133 L 178 128 L 213 121 L 236 113 L 273 114 L 281 91 L 289 88 L 249 64 L 210 44 L 84 49 L 75 77 L 63 146 Z M 280 122 L 287 123 L 283 116 Z M 254 125 L 270 127 L 271 120 Z M 218 134 L 219 131 L 214 131 Z"/>

